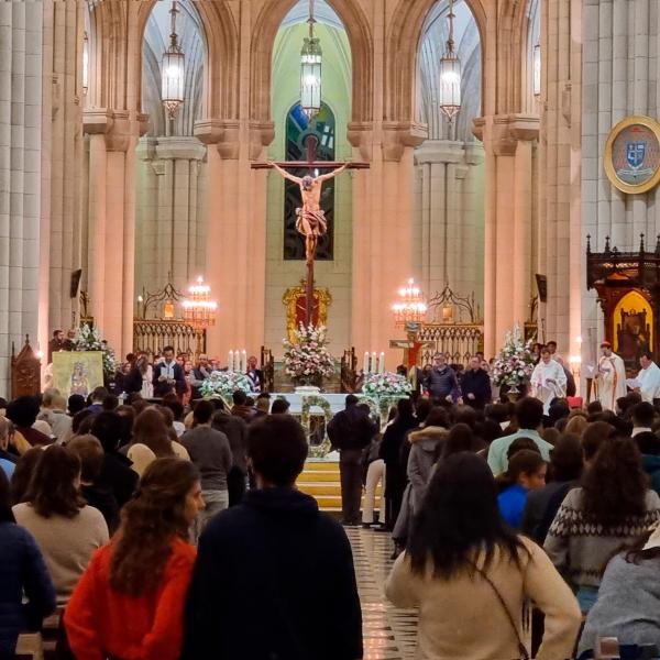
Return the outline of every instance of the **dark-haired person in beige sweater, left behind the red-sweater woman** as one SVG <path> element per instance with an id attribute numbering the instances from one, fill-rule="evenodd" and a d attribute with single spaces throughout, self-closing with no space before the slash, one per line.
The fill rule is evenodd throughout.
<path id="1" fill-rule="evenodd" d="M 108 542 L 106 520 L 85 504 L 79 483 L 78 457 L 64 447 L 48 447 L 34 468 L 25 502 L 12 509 L 44 556 L 58 604 L 68 601 L 92 553 Z"/>

